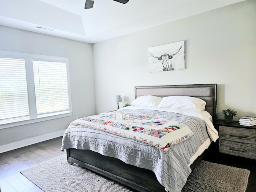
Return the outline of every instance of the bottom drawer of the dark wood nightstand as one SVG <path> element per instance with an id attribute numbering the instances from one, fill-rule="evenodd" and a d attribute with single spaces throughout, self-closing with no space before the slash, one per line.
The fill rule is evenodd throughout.
<path id="1" fill-rule="evenodd" d="M 220 152 L 235 156 L 256 159 L 256 145 L 220 139 Z"/>

